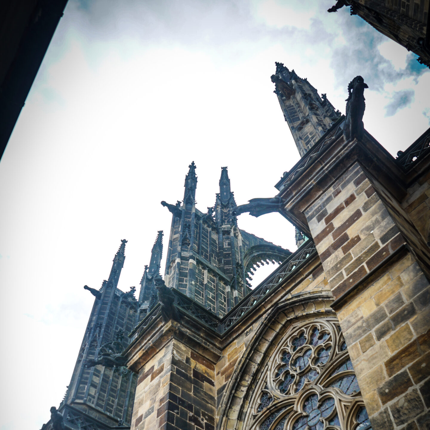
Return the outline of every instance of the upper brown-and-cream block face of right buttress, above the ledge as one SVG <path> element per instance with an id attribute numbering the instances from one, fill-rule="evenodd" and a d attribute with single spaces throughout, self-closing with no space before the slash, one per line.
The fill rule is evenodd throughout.
<path id="1" fill-rule="evenodd" d="M 357 163 L 305 215 L 335 298 L 405 242 Z"/>

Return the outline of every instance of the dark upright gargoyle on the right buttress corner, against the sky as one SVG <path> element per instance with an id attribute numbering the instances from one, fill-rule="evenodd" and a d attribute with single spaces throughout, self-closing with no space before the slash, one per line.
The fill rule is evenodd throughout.
<path id="1" fill-rule="evenodd" d="M 350 140 L 362 137 L 364 133 L 363 115 L 366 107 L 364 89 L 369 88 L 361 76 L 356 76 L 348 85 L 348 98 L 346 99 L 346 119 L 344 125 L 344 138 Z"/>

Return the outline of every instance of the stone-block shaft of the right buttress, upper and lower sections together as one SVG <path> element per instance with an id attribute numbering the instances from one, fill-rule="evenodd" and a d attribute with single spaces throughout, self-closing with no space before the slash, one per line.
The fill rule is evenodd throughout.
<path id="1" fill-rule="evenodd" d="M 358 294 L 356 302 L 341 301 L 335 310 L 348 350 L 356 359 L 353 365 L 372 424 L 378 430 L 407 424 L 428 407 L 420 394 L 423 379 L 414 379 L 406 370 L 427 352 L 429 344 L 427 278 L 412 255 L 408 264 L 399 266 L 402 270 L 389 272 L 387 264 L 393 264 L 406 240 L 358 163 L 305 215 L 335 299 L 352 288 Z M 393 253 L 396 256 L 390 262 Z M 403 253 L 408 253 L 406 248 Z M 372 283 L 375 271 L 382 280 Z M 414 359 L 399 352 L 396 356 L 406 347 L 399 339 L 412 342 L 412 349 L 415 345 Z M 405 415 L 405 405 L 417 413 Z"/>

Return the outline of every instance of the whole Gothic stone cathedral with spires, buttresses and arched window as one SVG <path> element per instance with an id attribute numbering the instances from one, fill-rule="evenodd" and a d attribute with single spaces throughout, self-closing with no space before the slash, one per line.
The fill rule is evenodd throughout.
<path id="1" fill-rule="evenodd" d="M 245 209 L 283 215 L 298 249 L 238 227 L 245 210 L 226 167 L 215 205 L 198 210 L 191 163 L 183 200 L 162 202 L 172 213 L 164 283 L 177 315 L 163 317 L 157 298 L 163 232 L 138 299 L 117 289 L 123 240 L 91 291 L 58 409 L 65 428 L 430 427 L 430 129 L 395 159 L 368 132 L 345 138 L 345 117 L 282 63 L 272 81 L 301 160 L 276 196 Z M 264 261 L 280 265 L 250 289 Z"/>

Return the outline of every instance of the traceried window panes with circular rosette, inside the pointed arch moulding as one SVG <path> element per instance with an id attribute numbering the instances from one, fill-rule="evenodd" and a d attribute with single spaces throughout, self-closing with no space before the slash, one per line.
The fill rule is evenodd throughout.
<path id="1" fill-rule="evenodd" d="M 249 430 L 371 430 L 335 318 L 290 327 L 251 401 Z"/>

